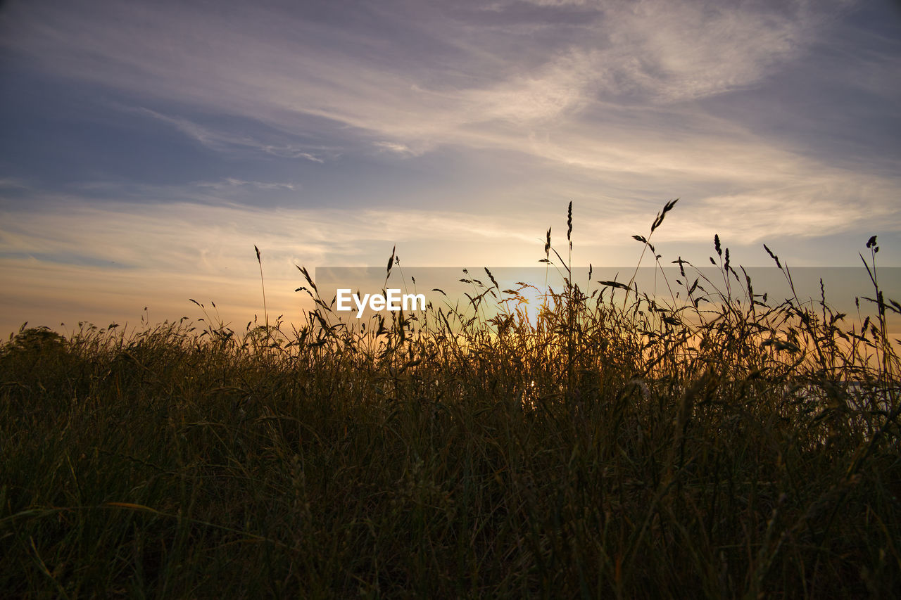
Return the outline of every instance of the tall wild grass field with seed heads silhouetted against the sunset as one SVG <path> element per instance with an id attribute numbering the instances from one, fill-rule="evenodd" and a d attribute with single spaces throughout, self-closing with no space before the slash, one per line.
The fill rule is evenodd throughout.
<path id="1" fill-rule="evenodd" d="M 534 325 L 487 273 L 472 304 L 499 314 L 348 327 L 302 269 L 318 304 L 289 332 L 23 329 L 0 349 L 4 597 L 896 596 L 875 239 L 854 324 L 758 295 L 718 237 L 723 281 L 679 262 L 664 305 L 580 289 L 550 236 L 565 284 Z"/>

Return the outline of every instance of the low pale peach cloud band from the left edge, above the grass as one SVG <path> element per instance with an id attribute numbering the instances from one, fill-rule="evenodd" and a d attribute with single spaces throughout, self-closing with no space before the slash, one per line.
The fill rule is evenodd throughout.
<path id="1" fill-rule="evenodd" d="M 223 185 L 253 184 L 226 179 Z M 164 188 L 155 195 L 170 194 Z M 472 223 L 469 214 L 441 211 L 273 210 L 186 201 L 97 204 L 89 196 L 75 195 L 50 196 L 40 202 L 51 210 L 5 211 L 0 254 L 43 257 L 43 262 L 55 256 L 78 256 L 83 263 L 115 261 L 126 268 L 211 276 L 241 265 L 252 272 L 248 249 L 256 244 L 291 276 L 294 261 L 369 264 L 374 249 L 385 251 L 399 239 L 417 253 L 428 251 L 422 248 L 423 241 L 532 243 L 532 236 L 523 234 L 521 222 L 479 224 Z M 478 249 L 472 250 L 469 259 L 474 256 Z"/>

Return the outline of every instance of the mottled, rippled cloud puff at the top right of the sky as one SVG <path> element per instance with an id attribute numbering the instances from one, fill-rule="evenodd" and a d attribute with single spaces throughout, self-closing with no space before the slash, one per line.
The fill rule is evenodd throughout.
<path id="1" fill-rule="evenodd" d="M 750 86 L 805 50 L 816 18 L 802 4 L 642 2 L 619 5 L 607 33 L 603 86 L 671 103 Z"/>

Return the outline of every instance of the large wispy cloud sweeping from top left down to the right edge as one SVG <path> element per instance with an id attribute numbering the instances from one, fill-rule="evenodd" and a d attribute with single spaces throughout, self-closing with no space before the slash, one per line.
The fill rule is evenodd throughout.
<path id="1" fill-rule="evenodd" d="M 465 13 L 456 3 L 423 5 L 410 20 L 378 5 L 368 7 L 373 25 L 362 30 L 273 5 L 221 14 L 190 4 L 171 12 L 108 2 L 90 12 L 18 5 L 11 13 L 20 30 L 6 44 L 65 77 L 240 115 L 286 135 L 328 130 L 349 145 L 356 140 L 354 151 L 399 158 L 441 147 L 483 152 L 485 160 L 522 153 L 546 161 L 549 179 L 586 177 L 607 193 L 614 188 L 606 182 L 616 182 L 647 189 L 655 202 L 705 182 L 764 186 L 777 202 L 798 182 L 811 196 L 842 177 L 873 177 L 879 193 L 897 185 L 886 168 L 874 172 L 875 163 L 802 157 L 805 148 L 756 132 L 752 116 L 730 121 L 697 104 L 761 85 L 805 59 L 849 2 L 532 4 L 541 5 L 541 19 L 523 14 L 521 2 L 488 5 L 505 15 L 490 27 L 479 18 L 484 10 Z M 576 9 L 593 16 L 563 18 Z M 529 23 L 528 34 L 517 20 Z M 394 41 L 379 27 L 393 28 Z M 871 57 L 872 72 L 861 77 L 884 72 L 884 59 Z M 138 110 L 213 150 L 332 157 Z"/>

